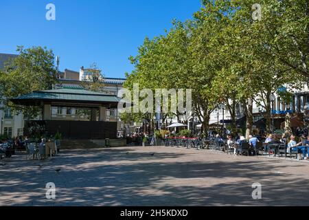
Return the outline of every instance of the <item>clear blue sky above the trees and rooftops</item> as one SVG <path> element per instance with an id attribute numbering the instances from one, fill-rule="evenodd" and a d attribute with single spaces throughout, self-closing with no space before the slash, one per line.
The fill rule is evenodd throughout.
<path id="1" fill-rule="evenodd" d="M 56 5 L 56 21 L 45 19 L 47 3 Z M 123 78 L 146 36 L 163 34 L 172 19 L 191 19 L 199 8 L 200 0 L 1 0 L 0 53 L 46 46 L 60 56 L 60 70 L 95 62 L 106 77 Z"/>

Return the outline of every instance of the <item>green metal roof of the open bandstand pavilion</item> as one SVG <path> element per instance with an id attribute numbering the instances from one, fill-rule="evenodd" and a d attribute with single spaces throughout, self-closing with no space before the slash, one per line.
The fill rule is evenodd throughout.
<path id="1" fill-rule="evenodd" d="M 27 102 L 50 101 L 50 102 L 76 102 L 76 103 L 117 103 L 117 96 L 110 96 L 94 91 L 83 89 L 53 89 L 45 91 L 33 91 L 32 94 L 26 94 L 12 99 L 16 104 L 26 104 Z"/>

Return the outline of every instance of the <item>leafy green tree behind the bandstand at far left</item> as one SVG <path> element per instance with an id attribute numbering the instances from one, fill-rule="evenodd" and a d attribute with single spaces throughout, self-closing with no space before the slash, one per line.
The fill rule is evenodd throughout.
<path id="1" fill-rule="evenodd" d="M 23 113 L 25 118 L 34 118 L 41 113 L 40 107 L 23 107 L 10 102 L 35 90 L 52 89 L 56 83 L 54 54 L 46 47 L 17 47 L 19 56 L 5 65 L 0 73 L 1 103 L 14 113 Z"/>

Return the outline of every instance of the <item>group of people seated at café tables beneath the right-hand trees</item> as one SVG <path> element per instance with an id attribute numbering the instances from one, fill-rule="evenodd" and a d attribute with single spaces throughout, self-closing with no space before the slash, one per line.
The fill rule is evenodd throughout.
<path id="1" fill-rule="evenodd" d="M 255 155 L 255 153 L 257 152 L 255 151 L 255 149 L 258 145 L 258 142 L 262 142 L 264 146 L 264 151 L 269 153 L 272 153 L 269 144 L 284 144 L 286 146 L 287 153 L 290 153 L 291 151 L 297 151 L 298 159 L 309 159 L 309 136 L 302 137 L 301 142 L 299 143 L 295 141 L 295 138 L 295 135 L 292 135 L 290 137 L 290 141 L 288 142 L 288 138 L 286 137 L 286 135 L 282 135 L 281 139 L 279 139 L 276 137 L 276 135 L 270 134 L 268 135 L 268 137 L 266 137 L 266 140 L 262 142 L 258 139 L 258 137 L 254 137 L 253 135 L 249 135 L 249 141 L 247 141 L 243 135 L 239 135 L 238 137 L 236 137 L 236 141 L 234 141 L 232 136 L 228 135 L 227 146 L 229 146 L 229 148 L 234 148 L 234 155 L 240 155 L 242 153 L 242 144 L 246 142 L 250 146 L 249 154 Z M 222 141 L 222 139 L 218 137 L 217 140 Z"/>

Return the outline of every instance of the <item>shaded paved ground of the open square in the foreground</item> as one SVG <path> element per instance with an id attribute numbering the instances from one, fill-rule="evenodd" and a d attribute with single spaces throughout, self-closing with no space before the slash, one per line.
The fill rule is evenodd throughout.
<path id="1" fill-rule="evenodd" d="M 45 162 L 1 160 L 0 206 L 308 206 L 308 180 L 309 163 L 290 159 L 168 147 L 62 151 Z"/>

